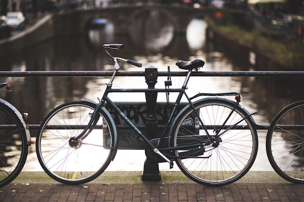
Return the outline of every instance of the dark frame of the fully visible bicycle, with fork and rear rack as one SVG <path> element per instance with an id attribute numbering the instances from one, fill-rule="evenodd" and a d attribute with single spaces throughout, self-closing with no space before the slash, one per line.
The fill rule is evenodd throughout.
<path id="1" fill-rule="evenodd" d="M 239 96 L 238 93 L 199 93 L 191 98 L 188 97 L 188 95 L 186 94 L 186 85 L 187 82 L 190 78 L 190 74 L 192 72 L 192 70 L 190 70 L 185 78 L 185 82 L 182 86 L 182 88 L 180 89 L 112 89 L 112 82 L 115 78 L 116 73 L 118 72 L 118 70 L 115 70 L 112 78 L 110 79 L 110 82 L 107 84 L 107 87 L 105 89 L 105 92 L 103 93 L 102 99 L 100 100 L 100 102 L 97 104 L 96 109 L 91 117 L 91 120 L 89 121 L 89 123 L 87 124 L 87 126 L 84 128 L 84 131 L 79 134 L 75 139 L 83 139 L 85 138 L 87 135 L 89 135 L 90 131 L 92 128 L 94 128 L 94 126 L 96 125 L 98 119 L 99 119 L 99 115 L 97 115 L 98 113 L 98 109 L 100 109 L 105 102 L 107 102 L 108 105 L 110 105 L 111 107 L 113 107 L 113 109 L 119 114 L 119 116 L 137 133 L 137 135 L 148 145 L 151 147 L 151 149 L 157 153 L 158 155 L 162 156 L 166 161 L 168 161 L 169 163 L 170 160 L 163 155 L 161 152 L 159 152 L 158 150 L 158 146 L 155 146 L 152 144 L 152 142 L 144 135 L 142 134 L 142 132 L 135 126 L 135 124 L 133 124 L 129 118 L 116 106 L 116 104 L 108 97 L 108 93 L 147 93 L 147 92 L 157 92 L 157 93 L 179 93 L 178 97 L 174 103 L 173 109 L 170 113 L 169 119 L 165 125 L 165 128 L 162 132 L 162 135 L 159 139 L 158 145 L 162 145 L 162 141 L 165 139 L 166 133 L 170 127 L 170 124 L 172 122 L 173 119 L 173 115 L 177 109 L 177 106 L 180 104 L 180 101 L 183 97 L 183 95 L 186 96 L 186 99 L 188 100 L 189 105 L 191 106 L 191 108 L 193 109 L 195 115 L 199 118 L 199 121 L 204 129 L 204 131 L 206 132 L 206 135 L 209 139 L 209 144 L 211 143 L 212 140 L 212 136 L 208 133 L 207 127 L 203 124 L 203 121 L 201 120 L 198 112 L 196 111 L 194 105 L 191 102 L 191 99 L 196 98 L 198 96 L 210 96 L 210 95 L 216 95 L 216 96 L 223 96 L 223 95 L 236 95 Z M 236 106 L 239 103 L 239 100 L 237 100 L 236 102 Z M 236 106 L 234 109 L 236 109 Z M 230 112 L 230 114 L 228 115 L 226 121 L 229 119 L 229 117 L 231 116 L 231 114 L 233 113 L 234 109 Z M 225 123 L 226 123 L 225 121 Z M 224 123 L 224 124 L 225 124 Z M 224 129 L 224 124 L 220 126 L 220 130 Z M 218 130 L 218 134 L 220 133 L 220 130 Z M 161 151 L 170 151 L 170 150 L 177 150 L 177 149 L 186 149 L 186 148 L 191 148 L 194 146 L 204 146 L 204 145 L 208 145 L 208 141 L 205 141 L 204 143 L 198 143 L 198 144 L 191 144 L 191 145 L 183 145 L 183 146 L 176 146 L 176 147 L 167 147 L 167 148 L 162 148 L 160 149 Z"/>

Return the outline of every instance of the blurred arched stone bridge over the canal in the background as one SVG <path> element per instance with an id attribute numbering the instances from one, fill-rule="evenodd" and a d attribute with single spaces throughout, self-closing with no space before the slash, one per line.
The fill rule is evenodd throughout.
<path id="1" fill-rule="evenodd" d="M 84 10 L 80 11 L 80 29 L 84 32 L 91 20 L 95 18 L 106 18 L 113 22 L 115 33 L 128 34 L 130 25 L 135 16 L 153 10 L 162 12 L 168 16 L 174 26 L 174 31 L 177 34 L 185 34 L 187 26 L 192 19 L 196 17 L 204 17 L 206 15 L 214 15 L 216 12 L 216 9 L 173 5 L 125 6 Z"/>

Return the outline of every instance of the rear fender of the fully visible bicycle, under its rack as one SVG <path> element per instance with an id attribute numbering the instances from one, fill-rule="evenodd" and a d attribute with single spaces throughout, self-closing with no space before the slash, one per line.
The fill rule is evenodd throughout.
<path id="1" fill-rule="evenodd" d="M 203 99 L 194 101 L 194 102 L 193 102 L 193 105 L 195 105 L 195 104 L 197 104 L 197 103 L 199 103 L 199 102 L 204 102 L 205 100 L 223 100 L 223 101 L 225 101 L 225 102 L 230 102 L 231 104 L 234 104 L 234 105 L 236 104 L 236 102 L 234 102 L 234 101 L 232 101 L 232 100 L 230 100 L 230 99 L 227 99 L 227 98 L 223 98 L 223 97 L 206 97 L 206 98 L 203 98 Z M 239 108 L 241 108 L 241 109 L 248 115 L 248 119 L 249 119 L 254 125 L 256 125 L 256 124 L 255 124 L 255 121 L 254 121 L 254 119 L 253 119 L 253 117 L 252 117 L 252 114 L 250 114 L 250 113 L 248 112 L 248 110 L 245 109 L 244 107 L 242 107 L 240 104 L 237 104 L 237 106 L 238 106 Z M 190 104 L 186 105 L 186 107 L 184 107 L 184 108 L 176 115 L 176 117 L 181 116 L 181 114 L 183 114 L 184 111 L 188 110 L 189 108 L 191 108 Z M 171 134 L 172 134 L 173 127 L 174 127 L 174 125 L 176 124 L 176 122 L 177 122 L 177 119 L 175 118 L 175 119 L 173 120 L 173 123 L 171 124 L 170 130 L 169 130 L 168 144 L 170 144 Z M 169 146 L 170 146 L 170 145 L 169 145 Z"/>

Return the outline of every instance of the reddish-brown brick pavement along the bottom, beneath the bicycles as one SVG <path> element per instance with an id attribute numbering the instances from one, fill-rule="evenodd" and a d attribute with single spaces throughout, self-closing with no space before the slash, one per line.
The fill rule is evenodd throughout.
<path id="1" fill-rule="evenodd" d="M 234 183 L 210 187 L 196 183 L 135 184 L 11 183 L 0 188 L 0 202 L 304 202 L 304 185 Z"/>

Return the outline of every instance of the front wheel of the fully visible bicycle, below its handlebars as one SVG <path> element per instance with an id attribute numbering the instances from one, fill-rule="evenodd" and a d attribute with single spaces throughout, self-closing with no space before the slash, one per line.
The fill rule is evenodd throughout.
<path id="1" fill-rule="evenodd" d="M 90 121 L 96 105 L 75 101 L 53 109 L 42 122 L 36 139 L 40 165 L 54 180 L 78 185 L 98 177 L 109 165 L 114 148 L 113 125 L 100 118 L 84 139 L 75 139 Z M 115 154 L 114 154 L 115 155 Z"/>

